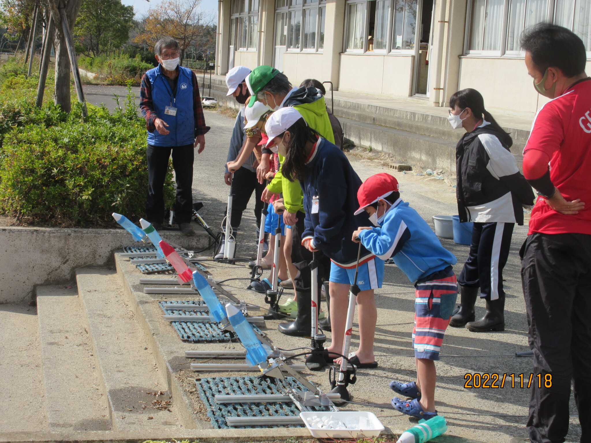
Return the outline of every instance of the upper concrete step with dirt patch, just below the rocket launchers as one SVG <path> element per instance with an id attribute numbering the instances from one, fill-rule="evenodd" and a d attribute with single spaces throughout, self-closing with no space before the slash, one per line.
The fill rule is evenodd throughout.
<path id="1" fill-rule="evenodd" d="M 154 409 L 158 405 L 152 402 L 173 399 L 135 314 L 125 301 L 116 272 L 79 269 L 76 281 L 113 428 L 181 429 L 172 404 L 170 411 Z"/>

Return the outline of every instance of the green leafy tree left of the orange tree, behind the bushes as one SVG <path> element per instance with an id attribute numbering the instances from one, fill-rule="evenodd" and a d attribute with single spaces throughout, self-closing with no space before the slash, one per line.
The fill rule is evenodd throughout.
<path id="1" fill-rule="evenodd" d="M 133 25 L 133 6 L 121 0 L 84 0 L 74 28 L 77 48 L 92 56 L 119 49 Z"/>

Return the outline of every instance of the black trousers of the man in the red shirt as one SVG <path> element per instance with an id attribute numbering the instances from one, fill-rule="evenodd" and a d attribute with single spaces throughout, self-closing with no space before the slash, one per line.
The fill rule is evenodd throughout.
<path id="1" fill-rule="evenodd" d="M 591 442 L 591 235 L 534 233 L 519 255 L 536 380 L 530 439 L 564 441 L 573 380 L 580 441 Z M 541 387 L 536 374 L 542 374 Z M 545 374 L 551 374 L 551 387 L 544 385 Z"/>

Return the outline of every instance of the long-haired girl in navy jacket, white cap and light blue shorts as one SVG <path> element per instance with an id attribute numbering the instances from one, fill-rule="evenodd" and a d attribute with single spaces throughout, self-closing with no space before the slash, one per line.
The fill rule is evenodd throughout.
<path id="1" fill-rule="evenodd" d="M 304 210 L 301 234 L 302 260 L 311 260 L 316 252 L 319 260 L 319 276 L 330 281 L 330 324 L 332 343 L 328 351 L 342 352 L 345 337 L 349 286 L 353 283 L 359 245 L 352 241 L 353 231 L 368 226 L 368 213 L 359 209 L 357 191 L 361 179 L 353 170 L 346 155 L 330 141 L 322 138 L 307 125 L 296 108 L 281 108 L 271 114 L 265 125 L 269 137 L 268 146 L 277 146 L 285 157 L 281 172 L 285 180 L 299 180 L 304 193 Z M 275 149 L 275 148 L 272 148 Z M 300 220 L 298 220 L 298 223 Z M 304 255 L 304 254 L 303 254 Z M 329 260 L 330 259 L 330 260 Z M 294 265 L 297 258 L 292 255 Z M 300 267 L 298 267 L 300 266 Z M 308 294 L 309 272 L 298 272 L 294 286 L 298 289 L 298 318 L 301 294 Z M 378 366 L 374 359 L 374 335 L 377 311 L 374 289 L 381 288 L 384 278 L 384 260 L 361 247 L 357 284 L 361 292 L 357 296 L 359 314 L 359 348 L 349 355 L 349 361 L 358 368 Z M 318 284 L 320 284 L 318 282 Z M 310 298 L 306 295 L 308 302 Z M 308 317 L 310 321 L 310 317 Z M 327 358 L 332 361 L 332 358 Z"/>

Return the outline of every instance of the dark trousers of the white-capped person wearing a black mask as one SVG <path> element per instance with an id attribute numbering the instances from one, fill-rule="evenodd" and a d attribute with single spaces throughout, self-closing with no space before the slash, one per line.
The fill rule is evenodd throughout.
<path id="1" fill-rule="evenodd" d="M 255 193 L 255 219 L 256 226 L 261 223 L 261 210 L 265 206 L 265 202 L 261 201 L 262 191 L 265 189 L 265 184 L 258 183 L 256 180 L 256 172 L 252 172 L 246 168 L 240 168 L 234 172 L 232 178 L 232 214 L 230 215 L 230 224 L 232 230 L 238 230 L 242 221 L 242 213 L 248 206 L 248 201 L 251 199 L 252 193 Z M 224 214 L 228 212 L 226 211 Z M 225 228 L 225 225 L 224 225 Z"/>

